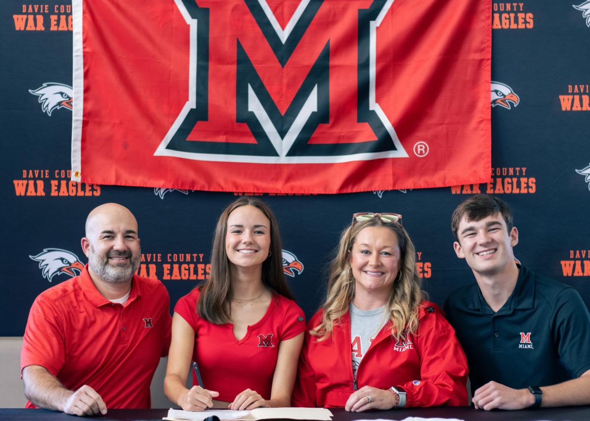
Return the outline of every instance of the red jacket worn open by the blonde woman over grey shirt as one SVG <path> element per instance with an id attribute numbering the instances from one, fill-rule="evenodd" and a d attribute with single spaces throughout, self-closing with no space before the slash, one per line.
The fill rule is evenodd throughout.
<path id="1" fill-rule="evenodd" d="M 417 332 L 402 336 L 397 343 L 391 336 L 391 322 L 379 331 L 360 361 L 356 385 L 350 314 L 334 324 L 332 335 L 318 342 L 309 330 L 320 324 L 322 314 L 318 311 L 307 325 L 293 390 L 294 406 L 342 407 L 350 394 L 363 386 L 402 386 L 407 392 L 407 407 L 467 405 L 467 360 L 455 331 L 436 304 L 423 301 Z"/>

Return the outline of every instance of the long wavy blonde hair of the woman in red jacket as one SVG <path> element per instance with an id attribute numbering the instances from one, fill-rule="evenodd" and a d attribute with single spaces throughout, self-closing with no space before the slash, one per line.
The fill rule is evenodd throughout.
<path id="1" fill-rule="evenodd" d="M 425 299 L 425 292 L 421 290 L 421 281 L 416 270 L 414 244 L 401 223 L 383 222 L 380 218 L 373 218 L 363 222 L 353 221 L 340 236 L 336 257 L 330 264 L 326 301 L 321 307 L 322 323 L 310 330 L 310 334 L 318 337 L 319 341 L 332 333 L 334 325 L 348 312 L 350 301 L 355 296 L 356 281 L 352 277 L 350 252 L 356 236 L 369 226 L 391 229 L 398 239 L 400 267 L 386 304 L 392 323 L 391 336 L 399 340 L 406 330 L 415 333 L 418 329 L 418 308 Z"/>

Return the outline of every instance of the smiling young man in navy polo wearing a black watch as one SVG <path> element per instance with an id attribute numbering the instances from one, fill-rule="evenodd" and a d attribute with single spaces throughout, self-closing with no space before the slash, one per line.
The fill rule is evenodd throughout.
<path id="1" fill-rule="evenodd" d="M 512 212 L 494 196 L 464 200 L 451 229 L 477 281 L 445 302 L 475 407 L 590 404 L 590 315 L 578 292 L 516 264 Z"/>

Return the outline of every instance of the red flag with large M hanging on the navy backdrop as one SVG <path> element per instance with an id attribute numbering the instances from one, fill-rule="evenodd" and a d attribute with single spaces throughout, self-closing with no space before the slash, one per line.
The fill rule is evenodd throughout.
<path id="1" fill-rule="evenodd" d="M 74 180 L 489 181 L 491 0 L 74 0 L 73 14 Z"/>

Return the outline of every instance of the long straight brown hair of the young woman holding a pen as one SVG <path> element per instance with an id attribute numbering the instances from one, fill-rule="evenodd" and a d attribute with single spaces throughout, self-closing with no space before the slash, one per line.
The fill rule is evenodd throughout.
<path id="1" fill-rule="evenodd" d="M 199 285 L 201 295 L 196 303 L 196 311 L 201 318 L 214 324 L 225 324 L 231 320 L 231 278 L 230 261 L 225 252 L 225 235 L 227 234 L 227 220 L 235 209 L 240 206 L 254 206 L 264 213 L 270 221 L 270 251 L 271 255 L 262 264 L 263 285 L 277 294 L 294 300 L 289 290 L 283 272 L 283 250 L 281 248 L 281 236 L 278 232 L 277 218 L 268 208 L 268 205 L 260 199 L 249 196 L 241 196 L 219 216 L 215 228 L 215 238 L 211 249 L 211 272 L 209 279 Z"/>

